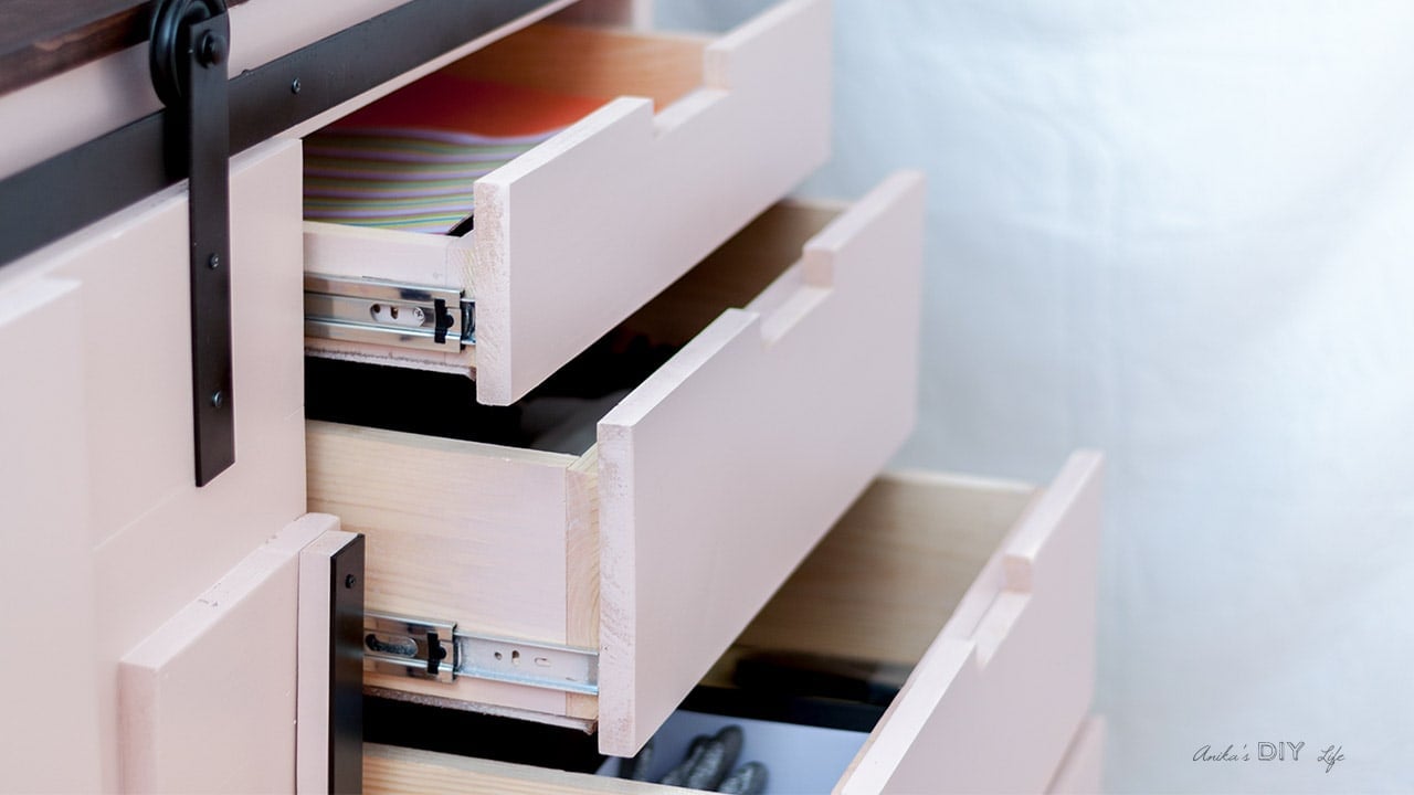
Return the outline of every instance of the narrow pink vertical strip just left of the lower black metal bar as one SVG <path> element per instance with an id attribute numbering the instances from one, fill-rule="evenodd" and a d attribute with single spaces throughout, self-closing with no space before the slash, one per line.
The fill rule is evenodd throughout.
<path id="1" fill-rule="evenodd" d="M 337 516 L 307 513 L 303 522 L 321 528 L 300 550 L 298 648 L 296 683 L 296 792 L 329 791 L 329 591 L 332 559 L 358 533 L 338 529 Z"/>

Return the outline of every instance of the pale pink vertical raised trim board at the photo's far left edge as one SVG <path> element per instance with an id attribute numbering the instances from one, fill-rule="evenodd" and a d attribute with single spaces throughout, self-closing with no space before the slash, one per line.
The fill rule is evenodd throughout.
<path id="1" fill-rule="evenodd" d="M 0 770 L 13 792 L 100 785 L 81 284 L 0 272 Z M 68 318 L 54 334 L 55 318 Z M 82 646 L 79 646 L 82 648 Z M 48 686 L 45 683 L 52 683 Z"/>

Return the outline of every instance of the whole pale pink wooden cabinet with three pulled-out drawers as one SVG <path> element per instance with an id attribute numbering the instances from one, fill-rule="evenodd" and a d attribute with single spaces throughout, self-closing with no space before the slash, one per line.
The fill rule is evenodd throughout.
<path id="1" fill-rule="evenodd" d="M 18 373 L 4 439 L 25 451 L 0 484 L 6 594 L 38 590 L 40 567 L 62 594 L 7 613 L 4 629 L 40 645 L 93 638 L 62 661 L 71 687 L 7 690 L 35 716 L 7 750 L 21 787 L 318 787 L 305 768 L 320 760 L 297 754 L 327 662 L 305 621 L 318 567 L 301 555 L 344 538 L 334 516 L 368 538 L 370 610 L 506 644 L 485 675 L 370 675 L 383 692 L 590 726 L 628 755 L 735 642 L 912 668 L 844 791 L 1038 791 L 1072 747 L 1093 767 L 1097 457 L 1042 489 L 936 475 L 868 487 L 915 412 L 923 190 L 901 174 L 853 205 L 772 207 L 826 154 L 827 4 L 788 0 L 711 41 L 580 27 L 626 20 L 622 3 L 512 35 L 566 4 L 532 4 L 232 158 L 238 457 L 204 488 L 191 482 L 182 187 L 0 270 L 0 352 Z M 236 6 L 233 37 L 259 38 L 267 8 Z M 259 65 L 250 52 L 233 62 Z M 590 58 L 609 96 L 662 102 L 611 99 L 479 182 L 468 239 L 301 222 L 298 136 L 433 68 L 563 88 L 567 55 Z M 655 85 L 641 86 L 641 62 L 663 64 Z M 62 96 L 71 79 L 23 91 Z M 0 98 L 7 124 L 13 98 Z M 469 293 L 475 344 L 301 342 L 307 270 Z M 510 403 L 619 324 L 676 352 L 600 419 L 584 454 L 304 419 L 305 344 L 474 372 L 478 399 Z M 526 685 L 516 644 L 585 652 L 592 680 Z M 6 672 L 54 675 L 27 661 Z M 612 785 L 382 748 L 366 770 L 389 791 L 417 777 Z"/>

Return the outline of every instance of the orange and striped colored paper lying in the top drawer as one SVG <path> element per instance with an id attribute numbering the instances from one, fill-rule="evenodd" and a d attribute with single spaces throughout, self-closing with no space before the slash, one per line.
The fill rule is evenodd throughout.
<path id="1" fill-rule="evenodd" d="M 305 139 L 304 216 L 461 233 L 478 177 L 602 102 L 430 75 Z"/>

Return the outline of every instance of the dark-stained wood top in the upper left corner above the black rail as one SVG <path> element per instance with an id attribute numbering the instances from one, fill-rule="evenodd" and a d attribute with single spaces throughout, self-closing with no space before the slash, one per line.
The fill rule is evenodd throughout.
<path id="1" fill-rule="evenodd" d="M 151 0 L 0 0 L 0 93 L 147 41 L 151 6 Z"/>

